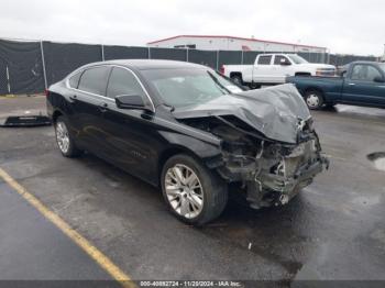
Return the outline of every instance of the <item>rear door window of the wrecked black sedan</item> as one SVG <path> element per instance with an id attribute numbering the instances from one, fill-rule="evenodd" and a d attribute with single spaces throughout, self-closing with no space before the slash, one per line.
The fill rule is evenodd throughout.
<path id="1" fill-rule="evenodd" d="M 80 77 L 79 90 L 105 96 L 106 85 L 110 67 L 100 66 L 85 70 Z"/>

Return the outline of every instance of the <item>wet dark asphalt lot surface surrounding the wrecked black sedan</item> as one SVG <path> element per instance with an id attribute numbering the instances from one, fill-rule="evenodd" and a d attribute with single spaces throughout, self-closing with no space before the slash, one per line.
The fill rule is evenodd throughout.
<path id="1" fill-rule="evenodd" d="M 44 110 L 44 98 L 32 99 Z M 21 101 L 0 99 L 0 115 L 23 110 Z M 97 157 L 62 157 L 52 126 L 0 129 L 0 168 L 133 279 L 385 280 L 385 171 L 367 157 L 385 152 L 385 110 L 337 106 L 312 114 L 329 171 L 285 207 L 254 211 L 235 197 L 202 229 L 168 213 L 158 189 Z M 1 184 L 0 279 L 105 278 L 32 210 Z"/>

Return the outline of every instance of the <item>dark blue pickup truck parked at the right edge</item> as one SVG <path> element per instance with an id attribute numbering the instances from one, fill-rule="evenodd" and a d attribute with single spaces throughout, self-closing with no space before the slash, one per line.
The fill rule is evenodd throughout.
<path id="1" fill-rule="evenodd" d="M 341 77 L 288 77 L 310 109 L 337 103 L 385 107 L 385 63 L 354 62 Z"/>

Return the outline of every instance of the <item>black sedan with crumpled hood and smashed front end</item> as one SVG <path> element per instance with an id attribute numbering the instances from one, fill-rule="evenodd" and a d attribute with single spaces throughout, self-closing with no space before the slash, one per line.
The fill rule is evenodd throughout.
<path id="1" fill-rule="evenodd" d="M 197 225 L 222 212 L 230 182 L 255 209 L 286 204 L 327 165 L 293 85 L 243 91 L 195 64 L 89 64 L 50 87 L 47 111 L 64 156 L 88 151 L 161 186 Z"/>

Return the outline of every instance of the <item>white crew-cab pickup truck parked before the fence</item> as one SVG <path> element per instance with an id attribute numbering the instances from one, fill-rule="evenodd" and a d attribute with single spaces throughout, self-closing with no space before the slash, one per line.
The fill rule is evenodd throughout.
<path id="1" fill-rule="evenodd" d="M 289 76 L 334 76 L 336 67 L 308 63 L 297 54 L 260 54 L 254 65 L 223 65 L 221 73 L 239 85 L 284 84 Z"/>

